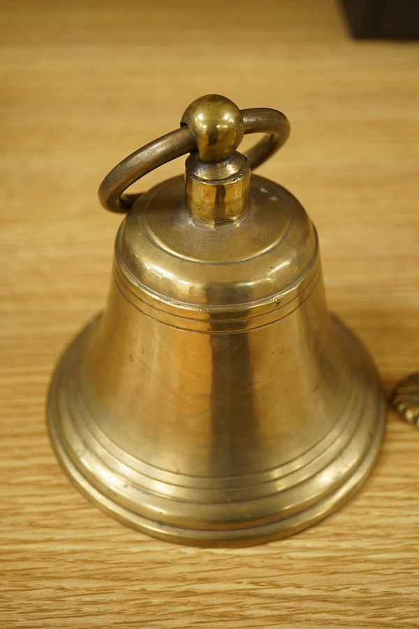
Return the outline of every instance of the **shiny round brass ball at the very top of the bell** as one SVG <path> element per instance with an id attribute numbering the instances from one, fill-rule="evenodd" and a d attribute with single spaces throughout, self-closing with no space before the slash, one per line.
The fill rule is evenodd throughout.
<path id="1" fill-rule="evenodd" d="M 240 109 L 218 94 L 193 101 L 180 124 L 189 126 L 196 140 L 199 159 L 206 163 L 227 159 L 244 136 Z"/>

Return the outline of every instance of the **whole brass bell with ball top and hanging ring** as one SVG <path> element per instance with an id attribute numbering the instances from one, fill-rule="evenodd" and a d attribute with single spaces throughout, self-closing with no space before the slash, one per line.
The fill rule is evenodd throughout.
<path id="1" fill-rule="evenodd" d="M 205 96 L 99 190 L 128 213 L 105 312 L 52 379 L 50 435 L 91 501 L 163 540 L 296 533 L 351 498 L 381 447 L 378 375 L 328 312 L 314 226 L 286 189 L 251 175 L 288 133 L 275 110 Z M 186 184 L 123 194 L 186 152 Z"/>

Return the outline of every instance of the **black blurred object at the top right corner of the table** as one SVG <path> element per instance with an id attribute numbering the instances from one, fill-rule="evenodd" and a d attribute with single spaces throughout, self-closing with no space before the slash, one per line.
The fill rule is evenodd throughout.
<path id="1" fill-rule="evenodd" d="M 341 0 L 354 37 L 419 37 L 418 0 Z"/>

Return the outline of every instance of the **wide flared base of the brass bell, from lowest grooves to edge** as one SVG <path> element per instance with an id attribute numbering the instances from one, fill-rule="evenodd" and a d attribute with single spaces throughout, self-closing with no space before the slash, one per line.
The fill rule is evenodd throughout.
<path id="1" fill-rule="evenodd" d="M 155 467 L 105 434 L 80 383 L 84 353 L 100 321 L 101 315 L 62 357 L 47 415 L 52 444 L 71 482 L 118 521 L 179 544 L 249 546 L 321 521 L 369 476 L 383 440 L 385 402 L 367 352 L 337 319 L 333 324 L 351 386 L 333 428 L 297 458 L 241 477 L 182 475 Z"/>

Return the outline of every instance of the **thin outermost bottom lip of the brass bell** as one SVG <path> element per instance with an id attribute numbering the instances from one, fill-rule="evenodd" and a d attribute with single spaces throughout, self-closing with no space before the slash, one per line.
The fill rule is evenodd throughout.
<path id="1" fill-rule="evenodd" d="M 179 526 L 177 523 L 170 524 L 167 521 L 162 522 L 159 521 L 158 518 L 147 518 L 121 504 L 117 489 L 105 486 L 101 486 L 101 489 L 98 489 L 98 486 L 95 486 L 98 484 L 97 479 L 96 483 L 91 482 L 89 478 L 83 474 L 80 466 L 75 463 L 75 458 L 77 459 L 80 453 L 70 452 L 66 449 L 66 438 L 63 433 L 65 428 L 62 425 L 62 417 L 59 417 L 56 408 L 57 404 L 59 404 L 60 396 L 65 397 L 65 392 L 63 392 L 60 387 L 60 377 L 66 367 L 69 352 L 74 351 L 80 336 L 83 334 L 88 335 L 90 325 L 84 329 L 82 335 L 71 343 L 62 356 L 50 386 L 47 403 L 47 421 L 52 445 L 61 463 L 61 467 L 81 493 L 103 512 L 106 512 L 108 515 L 112 516 L 112 518 L 117 519 L 130 528 L 168 542 L 188 544 L 197 547 L 242 547 L 288 537 L 300 530 L 313 526 L 347 503 L 358 489 L 360 489 L 362 484 L 366 482 L 381 450 L 381 442 L 385 431 L 385 400 L 374 364 L 371 359 L 369 359 L 369 355 L 358 339 L 355 338 L 343 324 L 337 321 L 336 323 L 348 333 L 348 337 L 351 338 L 352 342 L 355 342 L 355 345 L 358 345 L 359 351 L 362 352 L 362 360 L 374 381 L 375 408 L 374 413 L 369 413 L 370 424 L 372 424 L 369 426 L 369 442 L 364 438 L 364 447 L 361 451 L 362 456 L 360 455 L 357 465 L 352 468 L 351 473 L 347 475 L 340 484 L 335 486 L 332 491 L 325 491 L 321 498 L 314 500 L 314 503 L 309 503 L 306 508 L 297 509 L 294 513 L 288 514 L 288 516 L 282 513 L 277 519 L 271 519 L 271 521 L 267 521 L 258 526 L 242 526 L 242 523 L 240 523 L 240 526 L 235 526 L 234 523 L 228 523 L 226 528 L 205 529 L 199 526 L 193 528 L 192 526 Z M 369 410 L 371 404 L 372 399 L 369 399 L 369 403 L 366 404 Z M 374 422 L 371 420 L 372 415 L 375 417 Z M 356 431 L 359 430 L 358 426 L 360 426 L 360 424 L 362 424 L 362 416 L 359 418 Z M 344 455 L 345 449 L 346 448 L 342 450 L 342 455 Z M 85 471 L 86 470 L 84 470 L 84 472 Z M 112 499 L 112 496 L 114 496 L 115 499 Z M 193 504 L 195 503 L 190 503 L 190 505 Z"/>

